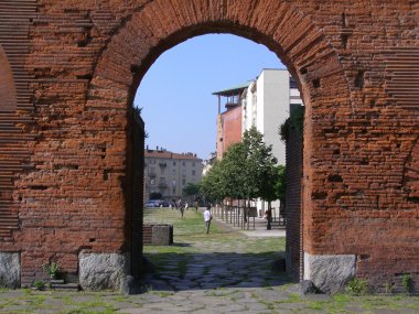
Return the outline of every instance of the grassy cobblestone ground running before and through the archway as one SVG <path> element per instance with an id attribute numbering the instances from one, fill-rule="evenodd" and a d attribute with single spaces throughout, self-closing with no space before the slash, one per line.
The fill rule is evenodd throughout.
<path id="1" fill-rule="evenodd" d="M 273 267 L 284 238 L 264 237 L 262 225 L 247 235 L 222 223 L 204 235 L 200 213 L 189 210 L 184 220 L 176 215 L 159 209 L 144 217 L 174 220 L 175 242 L 144 248 L 155 271 L 141 293 L 0 290 L 0 313 L 419 313 L 418 296 L 301 295 Z"/>

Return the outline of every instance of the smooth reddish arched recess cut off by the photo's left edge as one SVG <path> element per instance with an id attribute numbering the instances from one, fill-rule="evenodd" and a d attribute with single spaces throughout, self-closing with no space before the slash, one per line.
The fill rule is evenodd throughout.
<path id="1" fill-rule="evenodd" d="M 17 108 L 17 90 L 14 87 L 13 73 L 8 57 L 0 45 L 0 110 L 14 111 Z"/>

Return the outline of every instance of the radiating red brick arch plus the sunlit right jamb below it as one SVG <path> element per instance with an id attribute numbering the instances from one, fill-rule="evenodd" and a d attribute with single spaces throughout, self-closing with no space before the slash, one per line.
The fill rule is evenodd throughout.
<path id="1" fill-rule="evenodd" d="M 233 33 L 266 45 L 293 74 L 305 104 L 307 162 L 303 169 L 307 183 L 303 197 L 309 201 L 304 206 L 304 250 L 315 253 L 311 234 L 315 232 L 316 227 L 311 224 L 311 216 L 316 206 L 312 194 L 318 192 L 312 191 L 311 182 L 321 181 L 321 177 L 314 173 L 310 160 L 321 144 L 313 148 L 312 134 L 321 132 L 320 128 L 331 128 L 335 117 L 352 112 L 348 80 L 337 53 L 313 21 L 289 3 L 248 1 L 240 6 L 225 6 L 224 10 L 206 7 L 205 3 L 194 1 L 175 7 L 170 1 L 153 1 L 133 13 L 118 29 L 98 58 L 86 109 L 104 107 L 104 104 L 111 107 L 115 99 L 119 109 L 129 107 L 141 78 L 159 55 L 193 36 Z M 327 90 L 331 85 L 334 89 Z M 339 106 L 335 106 L 336 98 L 340 99 Z M 327 116 L 324 116 L 325 111 Z M 316 126 L 312 121 L 316 121 Z M 314 130 L 315 127 L 319 129 Z M 319 169 L 316 171 L 321 172 Z M 299 224 L 296 223 L 294 227 L 299 228 Z M 299 230 L 291 232 L 300 238 Z M 293 248 L 294 253 L 301 250 L 300 246 Z M 302 275 L 299 263 L 293 266 L 293 270 L 297 277 Z"/>

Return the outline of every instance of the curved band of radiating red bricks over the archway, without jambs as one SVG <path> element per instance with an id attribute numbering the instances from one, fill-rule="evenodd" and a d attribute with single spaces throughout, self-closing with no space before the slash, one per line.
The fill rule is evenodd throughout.
<path id="1" fill-rule="evenodd" d="M 164 51 L 193 36 L 232 33 L 275 52 L 297 78 L 307 104 L 313 95 L 327 96 L 313 87 L 314 80 L 322 79 L 339 84 L 339 96 L 350 99 L 350 84 L 337 53 L 309 15 L 289 3 L 253 2 L 224 6 L 224 10 L 201 0 L 181 8 L 168 1 L 148 3 L 116 30 L 96 63 L 89 90 L 100 89 L 95 78 L 131 90 Z"/>

